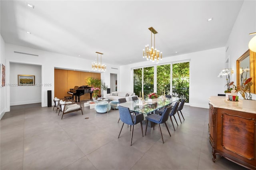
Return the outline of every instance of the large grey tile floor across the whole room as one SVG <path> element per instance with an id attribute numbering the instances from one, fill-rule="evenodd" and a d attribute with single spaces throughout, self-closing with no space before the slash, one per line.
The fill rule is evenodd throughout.
<path id="1" fill-rule="evenodd" d="M 61 120 L 52 108 L 36 103 L 12 106 L 5 113 L 0 121 L 1 170 L 246 169 L 220 156 L 212 162 L 208 109 L 185 105 L 185 121 L 177 119 L 176 131 L 167 122 L 171 137 L 161 126 L 164 144 L 157 127 L 142 137 L 138 124 L 130 146 L 127 126 L 117 138 L 122 125 L 118 110 L 95 114 L 84 107 L 84 115 L 78 111 Z"/>

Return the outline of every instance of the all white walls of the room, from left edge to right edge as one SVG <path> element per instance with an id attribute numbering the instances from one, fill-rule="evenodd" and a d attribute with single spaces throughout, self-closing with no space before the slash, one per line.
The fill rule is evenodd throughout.
<path id="1" fill-rule="evenodd" d="M 256 31 L 255 3 L 255 1 L 244 1 L 226 47 L 164 57 L 162 60 L 162 62 L 170 63 L 190 59 L 191 106 L 208 108 L 208 97 L 224 92 L 224 79 L 218 78 L 217 75 L 221 69 L 226 67 L 225 61 L 228 57 L 230 67 L 235 69 L 236 59 L 248 49 L 248 42 L 252 38 L 248 34 Z M 227 47 L 229 48 L 225 53 Z M 22 55 L 13 51 L 34 53 L 39 56 Z M 42 65 L 42 83 L 52 84 L 51 87 L 41 87 L 42 107 L 47 106 L 47 90 L 52 90 L 52 94 L 54 94 L 54 67 L 90 71 L 92 63 L 87 59 L 4 43 L 1 36 L 1 63 L 6 63 L 6 83 L 10 83 L 10 62 Z M 107 64 L 107 72 L 101 74 L 101 79 L 110 87 L 110 73 L 116 73 L 118 91 L 132 91 L 132 68 L 149 65 L 151 65 L 150 61 L 120 67 Z M 111 67 L 118 69 L 111 69 Z M 232 81 L 236 81 L 236 72 L 230 78 Z M 2 114 L 4 108 L 6 108 L 5 111 L 10 111 L 10 87 L 1 87 L 0 94 Z"/>

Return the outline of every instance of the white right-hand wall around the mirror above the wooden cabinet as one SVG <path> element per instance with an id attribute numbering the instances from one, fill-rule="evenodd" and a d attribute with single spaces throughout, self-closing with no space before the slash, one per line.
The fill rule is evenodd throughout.
<path id="1" fill-rule="evenodd" d="M 229 57 L 230 68 L 234 69 L 234 74 L 231 75 L 230 80 L 234 81 L 235 84 L 237 84 L 236 60 L 249 49 L 248 43 L 253 37 L 249 34 L 252 32 L 256 32 L 256 1 L 246 0 L 241 7 L 226 44 L 226 48 L 228 48 L 226 58 Z M 256 99 L 255 94 L 253 94 L 253 99 Z"/>

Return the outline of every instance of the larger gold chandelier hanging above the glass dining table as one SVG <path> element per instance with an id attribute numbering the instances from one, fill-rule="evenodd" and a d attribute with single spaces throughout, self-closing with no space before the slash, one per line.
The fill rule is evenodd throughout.
<path id="1" fill-rule="evenodd" d="M 159 59 L 162 60 L 162 52 L 160 53 L 159 50 L 155 46 L 155 34 L 157 34 L 156 30 L 153 27 L 148 28 L 148 30 L 151 31 L 151 48 L 148 48 L 148 45 L 146 45 L 145 49 L 143 49 L 143 58 L 146 58 L 147 60 L 150 60 L 154 62 L 156 60 L 156 63 L 159 62 Z M 154 47 L 152 46 L 152 33 L 154 34 Z M 160 56 L 161 54 L 161 56 Z"/>

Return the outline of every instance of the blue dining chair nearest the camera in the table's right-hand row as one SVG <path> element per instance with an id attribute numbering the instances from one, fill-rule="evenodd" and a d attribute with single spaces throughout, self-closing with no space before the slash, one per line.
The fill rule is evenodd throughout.
<path id="1" fill-rule="evenodd" d="M 164 143 L 164 139 L 163 139 L 163 135 L 162 135 L 160 124 L 164 123 L 166 129 L 168 130 L 168 133 L 170 134 L 170 131 L 169 131 L 167 125 L 166 125 L 166 121 L 169 118 L 169 114 L 170 114 L 171 108 L 172 108 L 171 106 L 166 107 L 164 109 L 164 112 L 162 113 L 162 115 L 151 114 L 151 115 L 148 115 L 147 117 L 145 117 L 147 119 L 145 136 L 146 136 L 146 133 L 147 133 L 148 121 L 151 121 L 153 123 L 157 123 L 159 131 L 160 131 L 160 134 L 161 134 L 162 141 Z M 170 134 L 170 136 L 171 136 L 171 134 Z"/>

